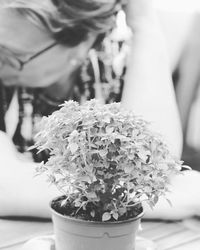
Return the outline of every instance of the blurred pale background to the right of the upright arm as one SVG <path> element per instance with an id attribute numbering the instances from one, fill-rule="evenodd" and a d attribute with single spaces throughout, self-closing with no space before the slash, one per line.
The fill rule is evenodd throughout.
<path id="1" fill-rule="evenodd" d="M 154 2 L 166 39 L 180 110 L 184 135 L 182 159 L 200 170 L 200 1 Z"/>

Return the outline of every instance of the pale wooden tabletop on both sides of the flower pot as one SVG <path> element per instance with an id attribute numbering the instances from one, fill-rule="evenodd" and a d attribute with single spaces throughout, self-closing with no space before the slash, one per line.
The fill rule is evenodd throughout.
<path id="1" fill-rule="evenodd" d="M 139 236 L 153 240 L 157 250 L 200 250 L 200 219 L 184 221 L 142 220 Z M 0 219 L 0 250 L 20 250 L 29 239 L 53 234 L 50 221 Z"/>

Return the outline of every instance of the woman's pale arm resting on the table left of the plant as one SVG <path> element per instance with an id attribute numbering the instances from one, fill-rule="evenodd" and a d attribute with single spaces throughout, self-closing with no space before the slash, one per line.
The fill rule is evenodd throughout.
<path id="1" fill-rule="evenodd" d="M 45 176 L 34 177 L 36 163 L 22 161 L 8 136 L 0 131 L 0 217 L 50 217 L 49 201 L 58 196 Z"/>

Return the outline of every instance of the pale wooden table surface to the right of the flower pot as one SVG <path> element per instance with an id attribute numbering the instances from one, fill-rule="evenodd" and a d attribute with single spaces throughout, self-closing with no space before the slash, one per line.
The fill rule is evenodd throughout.
<path id="1" fill-rule="evenodd" d="M 144 221 L 142 237 L 153 240 L 158 250 L 200 250 L 200 220 Z"/>

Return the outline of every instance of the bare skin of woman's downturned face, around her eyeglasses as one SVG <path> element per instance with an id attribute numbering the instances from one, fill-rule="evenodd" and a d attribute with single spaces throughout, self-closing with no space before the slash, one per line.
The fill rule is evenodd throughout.
<path id="1" fill-rule="evenodd" d="M 44 27 L 38 27 L 14 10 L 1 9 L 0 78 L 6 86 L 27 87 L 46 87 L 63 77 L 67 79 L 81 65 L 94 40 L 95 36 L 90 36 L 73 48 L 56 44 L 25 64 L 22 71 L 10 63 L 1 66 L 1 55 L 5 55 L 5 51 L 9 56 L 26 61 L 55 43 Z"/>

